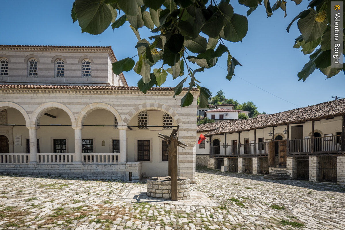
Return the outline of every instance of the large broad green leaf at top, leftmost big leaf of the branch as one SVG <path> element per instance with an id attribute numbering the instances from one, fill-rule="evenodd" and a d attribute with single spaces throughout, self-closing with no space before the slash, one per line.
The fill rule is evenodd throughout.
<path id="1" fill-rule="evenodd" d="M 76 0 L 74 9 L 82 33 L 101 34 L 112 20 L 110 9 L 101 0 Z"/>

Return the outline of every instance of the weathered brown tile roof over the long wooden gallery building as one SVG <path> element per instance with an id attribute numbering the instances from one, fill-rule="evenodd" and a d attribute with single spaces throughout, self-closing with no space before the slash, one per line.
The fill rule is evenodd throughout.
<path id="1" fill-rule="evenodd" d="M 266 114 L 252 119 L 219 121 L 197 126 L 198 132 L 208 132 L 205 136 L 285 125 L 345 114 L 345 99 L 328 101 L 285 112 Z"/>

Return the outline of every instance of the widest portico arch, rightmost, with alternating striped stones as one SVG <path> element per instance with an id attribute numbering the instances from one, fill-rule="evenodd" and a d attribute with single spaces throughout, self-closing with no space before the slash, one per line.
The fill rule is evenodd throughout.
<path id="1" fill-rule="evenodd" d="M 129 124 L 130 120 L 139 112 L 146 110 L 146 109 L 157 109 L 163 112 L 166 112 L 168 114 L 170 114 L 171 117 L 173 117 L 177 123 L 177 125 L 182 126 L 182 120 L 180 119 L 180 117 L 178 116 L 178 114 L 172 110 L 170 107 L 164 105 L 164 104 L 160 104 L 160 103 L 144 103 L 144 104 L 139 104 L 137 107 L 135 107 L 134 109 L 132 109 L 131 111 L 129 111 L 126 115 L 126 117 L 124 118 L 124 124 L 126 124 L 126 126 Z"/>

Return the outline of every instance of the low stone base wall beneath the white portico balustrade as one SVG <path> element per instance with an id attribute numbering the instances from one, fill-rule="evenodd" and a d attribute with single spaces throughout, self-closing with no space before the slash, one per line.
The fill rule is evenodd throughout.
<path id="1" fill-rule="evenodd" d="M 63 176 L 85 179 L 113 179 L 139 181 L 141 162 L 116 164 L 1 164 L 0 173 L 29 174 L 33 176 Z"/>

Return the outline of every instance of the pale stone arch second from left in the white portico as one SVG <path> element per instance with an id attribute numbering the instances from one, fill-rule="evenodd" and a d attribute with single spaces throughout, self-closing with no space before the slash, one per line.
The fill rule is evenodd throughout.
<path id="1" fill-rule="evenodd" d="M 59 102 L 46 102 L 38 106 L 31 115 L 31 125 L 38 126 L 43 114 L 51 109 L 62 109 L 63 111 L 67 112 L 68 116 L 71 119 L 72 126 L 76 125 L 76 117 L 74 116 L 73 112 L 67 106 Z"/>

